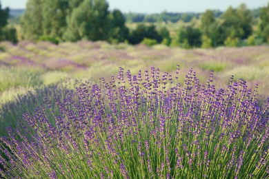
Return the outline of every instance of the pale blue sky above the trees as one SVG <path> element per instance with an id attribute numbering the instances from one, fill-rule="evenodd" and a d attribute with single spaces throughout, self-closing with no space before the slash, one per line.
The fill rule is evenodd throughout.
<path id="1" fill-rule="evenodd" d="M 27 0 L 0 0 L 2 8 L 26 8 Z M 110 10 L 121 12 L 160 13 L 167 12 L 204 12 L 211 10 L 226 10 L 229 6 L 238 7 L 246 3 L 248 8 L 267 6 L 269 0 L 107 0 Z"/>

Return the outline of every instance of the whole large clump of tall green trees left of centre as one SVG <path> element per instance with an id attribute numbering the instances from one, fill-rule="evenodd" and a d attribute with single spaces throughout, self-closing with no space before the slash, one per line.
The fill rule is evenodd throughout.
<path id="1" fill-rule="evenodd" d="M 128 37 L 119 10 L 110 12 L 106 0 L 29 0 L 21 17 L 23 39 L 123 42 Z M 55 41 L 55 39 L 57 41 Z"/>

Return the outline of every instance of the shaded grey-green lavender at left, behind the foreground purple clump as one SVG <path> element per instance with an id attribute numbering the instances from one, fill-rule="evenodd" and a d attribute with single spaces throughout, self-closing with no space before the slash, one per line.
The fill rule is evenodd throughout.
<path id="1" fill-rule="evenodd" d="M 13 92 L 14 97 L 16 97 L 13 101 L 8 101 L 3 104 L 1 104 L 2 101 L 0 101 L 0 136 L 8 136 L 5 130 L 6 127 L 23 129 L 18 123 L 18 118 L 21 118 L 25 112 L 28 112 L 30 115 L 34 114 L 34 109 L 37 106 L 43 105 L 45 98 L 51 101 L 50 105 L 52 105 L 52 108 L 55 106 L 54 98 L 63 100 L 68 93 L 72 95 L 72 98 L 75 98 L 75 94 L 73 90 L 68 87 L 68 83 L 72 83 L 72 81 L 66 80 L 57 85 L 47 85 L 35 90 L 28 89 L 28 92 L 21 95 L 19 95 L 18 92 Z M 56 108 L 54 112 L 56 112 Z M 51 121 L 54 123 L 53 118 L 51 118 Z"/>

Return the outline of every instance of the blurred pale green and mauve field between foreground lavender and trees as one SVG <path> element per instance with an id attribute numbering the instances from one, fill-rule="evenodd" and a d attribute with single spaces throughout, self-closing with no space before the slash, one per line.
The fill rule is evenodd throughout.
<path id="1" fill-rule="evenodd" d="M 17 45 L 0 43 L 0 103 L 12 101 L 42 85 L 50 85 L 66 78 L 110 78 L 119 67 L 137 73 L 150 67 L 161 72 L 175 72 L 181 68 L 181 81 L 192 67 L 204 83 L 210 70 L 215 71 L 217 87 L 225 87 L 231 75 L 243 78 L 253 87 L 259 84 L 259 94 L 267 96 L 269 89 L 269 47 L 217 48 L 183 50 L 155 45 L 110 45 L 106 42 L 32 43 Z"/>

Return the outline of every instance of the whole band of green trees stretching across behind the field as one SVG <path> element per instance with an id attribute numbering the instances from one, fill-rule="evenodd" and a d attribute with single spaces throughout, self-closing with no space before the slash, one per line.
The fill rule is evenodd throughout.
<path id="1" fill-rule="evenodd" d="M 249 10 L 241 4 L 238 8 L 229 7 L 225 12 L 206 10 L 201 14 L 123 14 L 120 10 L 110 11 L 108 7 L 106 0 L 28 0 L 19 21 L 21 38 L 53 43 L 81 40 L 163 43 L 182 48 L 269 42 L 269 3 L 259 10 Z M 8 8 L 1 8 L 0 2 L 0 41 L 16 42 L 16 30 L 8 25 L 8 12 Z M 191 19 L 199 19 L 199 23 Z M 188 23 L 181 25 L 177 35 L 172 37 L 166 25 L 157 28 L 154 23 L 179 20 Z M 126 21 L 141 23 L 130 29 Z"/>

